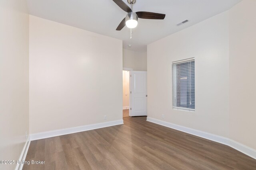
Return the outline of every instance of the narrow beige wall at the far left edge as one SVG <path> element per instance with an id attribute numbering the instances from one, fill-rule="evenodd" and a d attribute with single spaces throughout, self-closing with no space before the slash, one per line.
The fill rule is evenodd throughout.
<path id="1" fill-rule="evenodd" d="M 28 21 L 26 0 L 0 1 L 0 160 L 18 160 L 29 133 Z"/>

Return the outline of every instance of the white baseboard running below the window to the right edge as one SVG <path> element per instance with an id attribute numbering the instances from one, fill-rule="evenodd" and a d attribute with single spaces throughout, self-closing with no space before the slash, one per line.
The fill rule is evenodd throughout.
<path id="1" fill-rule="evenodd" d="M 165 126 L 165 127 L 169 127 L 169 128 L 172 128 L 172 129 L 176 129 L 178 131 L 189 133 L 191 135 L 195 135 L 195 136 L 198 136 L 198 137 L 209 139 L 211 141 L 222 143 L 224 145 L 228 145 L 228 146 L 230 146 L 230 147 L 232 147 L 232 148 L 234 148 L 234 149 L 236 149 L 236 150 L 238 150 L 238 151 L 256 159 L 256 150 L 254 150 L 250 147 L 247 147 L 247 146 L 245 146 L 241 143 L 238 143 L 236 141 L 233 141 L 232 139 L 228 139 L 226 137 L 221 137 L 221 136 L 214 135 L 214 134 L 211 134 L 211 133 L 207 133 L 207 132 L 204 132 L 204 131 L 198 131 L 196 129 L 191 129 L 191 128 L 188 128 L 188 127 L 176 125 L 176 124 L 169 123 L 169 122 L 166 122 L 166 121 L 162 121 L 162 120 L 159 120 L 159 119 L 154 119 L 152 117 L 147 117 L 147 121 L 150 121 L 152 123 L 156 123 L 158 125 L 162 125 L 162 126 Z"/>

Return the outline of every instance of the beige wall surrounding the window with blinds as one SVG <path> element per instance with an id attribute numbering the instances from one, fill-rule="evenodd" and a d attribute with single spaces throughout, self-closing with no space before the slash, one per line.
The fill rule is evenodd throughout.
<path id="1" fill-rule="evenodd" d="M 148 45 L 147 54 L 148 117 L 228 137 L 228 12 Z M 172 109 L 172 62 L 191 57 L 195 57 L 195 113 Z"/>

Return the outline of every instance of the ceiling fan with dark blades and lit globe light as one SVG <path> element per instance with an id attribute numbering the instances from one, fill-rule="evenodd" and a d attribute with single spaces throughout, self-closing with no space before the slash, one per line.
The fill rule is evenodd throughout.
<path id="1" fill-rule="evenodd" d="M 113 0 L 122 10 L 127 12 L 126 17 L 120 22 L 117 31 L 120 31 L 125 25 L 128 28 L 135 28 L 138 25 L 138 18 L 142 19 L 152 19 L 152 20 L 164 20 L 165 14 L 158 14 L 154 12 L 132 12 L 132 4 L 136 2 L 136 0 L 127 0 L 129 4 L 131 4 L 131 8 L 126 5 L 126 3 L 122 0 Z"/>

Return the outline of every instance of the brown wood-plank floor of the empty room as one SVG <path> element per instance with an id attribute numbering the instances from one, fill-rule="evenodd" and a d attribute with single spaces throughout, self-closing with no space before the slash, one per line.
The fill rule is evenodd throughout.
<path id="1" fill-rule="evenodd" d="M 23 170 L 256 169 L 256 160 L 226 145 L 126 117 L 124 125 L 31 141 Z"/>

